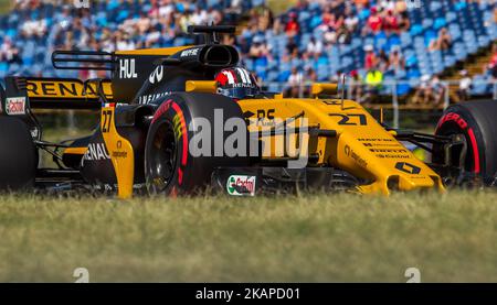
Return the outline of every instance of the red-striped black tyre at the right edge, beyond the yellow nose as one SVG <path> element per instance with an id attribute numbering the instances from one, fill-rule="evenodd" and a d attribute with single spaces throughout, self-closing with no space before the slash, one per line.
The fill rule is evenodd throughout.
<path id="1" fill-rule="evenodd" d="M 491 182 L 497 173 L 497 101 L 468 101 L 448 107 L 436 127 L 436 135 L 459 135 L 466 143 L 464 171 Z M 434 146 L 434 162 L 443 160 Z M 454 161 L 456 162 L 456 161 Z"/>

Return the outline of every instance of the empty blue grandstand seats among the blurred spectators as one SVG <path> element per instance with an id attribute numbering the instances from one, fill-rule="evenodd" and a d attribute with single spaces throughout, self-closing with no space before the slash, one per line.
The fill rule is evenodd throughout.
<path id="1" fill-rule="evenodd" d="M 230 2 L 225 0 L 175 1 L 175 9 L 180 13 L 187 8 L 192 10 L 197 7 L 224 10 L 230 7 Z M 376 1 L 369 2 L 376 4 Z M 364 77 L 367 73 L 363 68 L 364 45 L 372 45 L 377 53 L 382 50 L 387 55 L 395 47 L 400 50 L 405 59 L 405 70 L 387 72 L 385 79 L 409 80 L 411 87 L 413 87 L 417 85 L 421 75 L 440 74 L 497 40 L 497 25 L 494 21 L 495 4 L 489 2 L 491 1 L 422 1 L 423 4 L 420 8 L 408 8 L 411 24 L 409 31 L 400 33 L 379 31 L 369 34 L 361 33 L 361 29 L 367 26 L 367 20 L 370 15 L 369 8 L 358 9 L 353 7 L 353 13 L 359 18 L 359 25 L 350 41 L 346 44 L 336 43 L 326 47 L 318 58 L 310 56 L 309 59 L 304 61 L 303 58 L 284 56 L 288 55 L 286 54 L 288 35 L 285 32 L 274 34 L 269 29 L 266 33 L 258 33 L 257 36 L 261 36 L 271 45 L 272 56 L 269 58 L 245 57 L 244 62 L 264 81 L 286 81 L 292 67 L 297 67 L 300 70 L 311 67 L 316 72 L 318 80 L 328 80 L 337 72 L 348 73 L 352 69 L 357 69 Z M 241 1 L 242 11 L 247 12 L 251 8 L 264 3 L 265 0 Z M 97 40 L 104 35 L 104 29 L 114 31 L 126 20 L 138 19 L 141 13 L 148 14 L 152 8 L 150 0 L 109 0 L 99 1 L 96 6 L 92 9 L 92 19 L 83 18 L 82 22 L 93 26 L 92 34 Z M 306 50 L 311 37 L 322 41 L 324 33 L 319 26 L 322 23 L 320 2 L 309 1 L 307 6 L 288 10 L 281 17 L 283 22 L 286 22 L 290 14 L 296 14 L 300 28 L 296 36 L 296 43 L 300 52 Z M 23 35 L 21 28 L 29 20 L 43 20 L 47 29 L 46 33 L 42 36 Z M 63 8 L 53 4 L 43 4 L 36 9 L 14 10 L 10 14 L 0 17 L 0 45 L 6 40 L 10 40 L 20 51 L 20 61 L 11 61 L 10 63 L 2 61 L 0 63 L 0 78 L 8 74 L 74 77 L 75 72 L 54 70 L 50 61 L 51 51 L 61 46 L 64 41 L 60 28 L 71 28 L 71 18 L 64 17 Z M 442 28 L 446 28 L 452 36 L 451 47 L 445 51 L 427 52 L 430 42 L 438 35 Z M 73 29 L 75 41 L 83 34 L 77 29 Z M 251 36 L 251 32 L 246 32 L 244 39 L 250 44 L 255 36 Z M 144 37 L 137 36 L 134 40 L 144 40 Z M 152 46 L 173 46 L 191 42 L 188 36 L 166 35 Z M 490 75 L 478 75 L 476 78 L 477 80 L 490 79 Z M 408 92 L 410 86 L 400 86 L 398 89 L 401 92 Z M 475 92 L 488 92 L 489 90 L 491 90 L 489 86 L 474 87 Z"/>

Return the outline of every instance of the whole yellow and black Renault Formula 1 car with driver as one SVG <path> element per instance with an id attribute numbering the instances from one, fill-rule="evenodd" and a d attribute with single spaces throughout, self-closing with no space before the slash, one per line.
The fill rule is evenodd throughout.
<path id="1" fill-rule="evenodd" d="M 190 26 L 195 46 L 54 52 L 56 68 L 106 69 L 109 79 L 7 77 L 1 88 L 0 189 L 84 188 L 134 194 L 230 195 L 296 189 L 368 194 L 494 184 L 497 104 L 450 107 L 434 135 L 394 130 L 353 100 L 314 84 L 309 98 L 262 91 L 237 51 L 218 41 L 232 26 Z M 1 87 L 1 86 L 0 86 Z M 101 109 L 88 137 L 43 140 L 32 109 Z M 416 159 L 403 143 L 431 152 Z M 56 168 L 40 168 L 39 152 Z"/>

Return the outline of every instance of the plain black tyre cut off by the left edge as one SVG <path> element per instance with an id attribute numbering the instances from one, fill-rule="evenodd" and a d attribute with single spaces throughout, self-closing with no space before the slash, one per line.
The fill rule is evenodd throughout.
<path id="1" fill-rule="evenodd" d="M 34 187 L 38 152 L 27 124 L 0 117 L 0 192 Z"/>

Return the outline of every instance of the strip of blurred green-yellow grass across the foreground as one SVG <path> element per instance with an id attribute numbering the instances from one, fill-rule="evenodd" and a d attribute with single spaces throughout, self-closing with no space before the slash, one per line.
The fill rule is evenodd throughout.
<path id="1" fill-rule="evenodd" d="M 0 197 L 0 281 L 497 281 L 497 194 Z"/>

